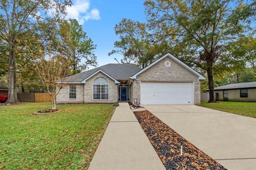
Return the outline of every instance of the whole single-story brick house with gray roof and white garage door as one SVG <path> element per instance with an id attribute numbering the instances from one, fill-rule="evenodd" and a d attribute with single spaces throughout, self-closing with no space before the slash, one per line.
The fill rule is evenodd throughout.
<path id="1" fill-rule="evenodd" d="M 107 64 L 60 80 L 66 83 L 58 104 L 115 103 L 200 104 L 203 75 L 171 54 L 141 69 L 133 64 Z"/>

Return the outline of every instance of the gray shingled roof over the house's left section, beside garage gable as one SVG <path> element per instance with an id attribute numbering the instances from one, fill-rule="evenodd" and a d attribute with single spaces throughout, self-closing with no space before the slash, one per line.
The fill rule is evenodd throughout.
<path id="1" fill-rule="evenodd" d="M 98 70 L 102 70 L 116 80 L 128 80 L 133 74 L 139 72 L 142 69 L 133 64 L 107 64 L 82 73 L 70 75 L 62 81 L 81 82 Z"/>

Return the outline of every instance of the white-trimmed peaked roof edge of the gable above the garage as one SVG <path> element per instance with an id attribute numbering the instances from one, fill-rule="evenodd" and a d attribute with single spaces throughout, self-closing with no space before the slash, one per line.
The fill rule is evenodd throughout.
<path id="1" fill-rule="evenodd" d="M 165 54 L 163 57 L 159 58 L 158 60 L 156 60 L 155 62 L 151 63 L 150 65 L 148 65 L 147 67 L 145 67 L 144 69 L 140 70 L 139 72 L 137 72 L 136 74 L 134 74 L 132 77 L 130 77 L 131 79 L 136 79 L 137 76 L 143 72 L 145 72 L 146 70 L 150 69 L 152 66 L 154 66 L 156 63 L 158 63 L 159 61 L 162 61 L 164 58 L 166 57 L 170 57 L 172 58 L 172 60 L 174 60 L 175 62 L 177 62 L 179 65 L 181 65 L 182 67 L 185 67 L 185 69 L 187 69 L 188 71 L 190 71 L 191 73 L 197 75 L 199 80 L 204 80 L 205 77 L 203 77 L 203 75 L 199 74 L 197 71 L 195 71 L 194 69 L 192 69 L 191 67 L 189 67 L 187 64 L 183 63 L 182 61 L 180 61 L 178 58 L 174 57 L 172 54 L 167 53 Z"/>

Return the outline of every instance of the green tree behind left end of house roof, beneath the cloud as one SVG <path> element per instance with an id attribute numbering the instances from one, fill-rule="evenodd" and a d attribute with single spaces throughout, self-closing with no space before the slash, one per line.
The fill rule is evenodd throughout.
<path id="1" fill-rule="evenodd" d="M 90 65 L 97 66 L 97 57 L 94 54 L 96 46 L 86 36 L 82 25 L 75 19 L 64 20 L 60 24 L 60 36 L 65 44 L 65 54 L 70 57 L 71 70 L 79 73 L 86 70 Z"/>

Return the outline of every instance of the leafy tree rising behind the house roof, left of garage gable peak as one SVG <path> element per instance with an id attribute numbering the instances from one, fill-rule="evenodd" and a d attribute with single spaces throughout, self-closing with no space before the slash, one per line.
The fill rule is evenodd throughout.
<path id="1" fill-rule="evenodd" d="M 145 23 L 124 18 L 116 24 L 115 33 L 120 40 L 115 41 L 115 49 L 108 55 L 121 55 L 121 63 L 134 63 L 144 68 L 161 55 L 160 45 L 153 41 Z"/>

